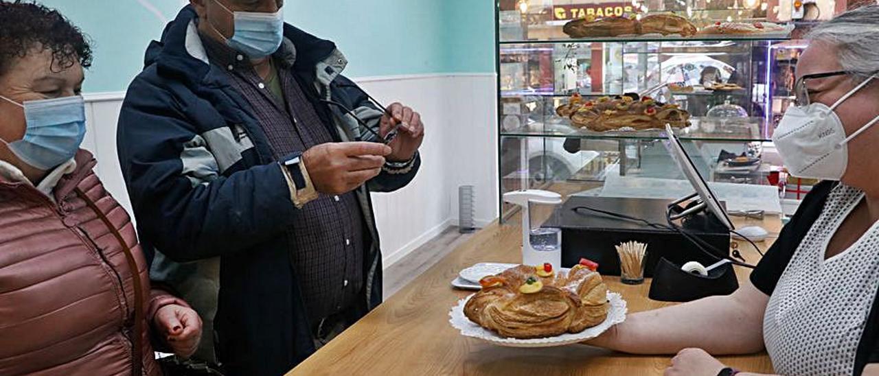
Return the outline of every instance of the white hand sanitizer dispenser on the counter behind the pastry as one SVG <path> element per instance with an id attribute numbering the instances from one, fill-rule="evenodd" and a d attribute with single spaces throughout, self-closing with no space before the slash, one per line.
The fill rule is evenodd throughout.
<path id="1" fill-rule="evenodd" d="M 542 224 L 555 213 L 555 207 L 562 204 L 562 195 L 527 190 L 507 192 L 504 200 L 522 206 L 522 264 L 540 266 L 549 263 L 554 271 L 560 270 L 562 229 L 547 228 Z"/>

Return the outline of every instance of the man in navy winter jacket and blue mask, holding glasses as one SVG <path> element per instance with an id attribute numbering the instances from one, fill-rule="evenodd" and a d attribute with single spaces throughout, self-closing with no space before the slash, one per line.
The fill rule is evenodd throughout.
<path id="1" fill-rule="evenodd" d="M 287 372 L 381 302 L 369 192 L 409 184 L 424 137 L 418 112 L 371 102 L 282 3 L 191 0 L 120 114 L 153 277 L 213 327 L 198 355 L 231 374 Z"/>

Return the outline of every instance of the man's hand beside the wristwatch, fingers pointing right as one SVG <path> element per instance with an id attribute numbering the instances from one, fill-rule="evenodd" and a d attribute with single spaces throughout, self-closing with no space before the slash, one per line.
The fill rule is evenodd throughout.
<path id="1" fill-rule="evenodd" d="M 324 194 L 351 192 L 377 177 L 391 148 L 377 142 L 324 143 L 302 154 L 315 190 Z"/>

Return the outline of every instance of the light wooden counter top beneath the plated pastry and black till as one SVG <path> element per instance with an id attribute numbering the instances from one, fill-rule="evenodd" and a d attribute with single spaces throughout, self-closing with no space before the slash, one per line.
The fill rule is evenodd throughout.
<path id="1" fill-rule="evenodd" d="M 777 235 L 781 221 L 736 219 L 737 226 L 759 224 Z M 758 243 L 766 249 L 774 239 Z M 458 271 L 480 262 L 521 260 L 518 226 L 491 224 L 455 249 L 409 286 L 345 330 L 290 374 L 294 375 L 650 375 L 662 374 L 671 357 L 632 356 L 585 345 L 514 349 L 461 336 L 448 323 L 448 312 L 472 292 L 449 283 Z M 749 263 L 759 256 L 746 243 L 740 249 Z M 740 282 L 750 271 L 737 268 Z M 647 298 L 649 285 L 625 286 L 607 277 L 607 286 L 621 293 L 629 312 L 664 307 Z M 708 333 L 707 333 L 708 335 Z M 772 372 L 766 354 L 723 357 L 730 366 L 749 372 Z"/>

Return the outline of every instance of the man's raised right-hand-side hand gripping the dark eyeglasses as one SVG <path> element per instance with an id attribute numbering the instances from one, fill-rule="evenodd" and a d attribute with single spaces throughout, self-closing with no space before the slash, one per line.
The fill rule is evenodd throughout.
<path id="1" fill-rule="evenodd" d="M 385 137 L 397 124 L 403 123 L 397 130 L 396 139 L 390 142 L 393 149 L 388 160 L 390 162 L 406 162 L 412 159 L 412 155 L 418 151 L 421 141 L 425 140 L 425 125 L 421 122 L 421 114 L 412 111 L 411 108 L 394 103 L 388 107 L 388 112 L 381 117 L 381 129 L 379 134 Z"/>

